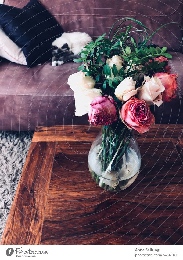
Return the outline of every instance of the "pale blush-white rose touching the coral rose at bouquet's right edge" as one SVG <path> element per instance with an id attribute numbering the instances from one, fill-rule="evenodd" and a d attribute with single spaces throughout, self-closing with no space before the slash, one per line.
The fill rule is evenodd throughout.
<path id="1" fill-rule="evenodd" d="M 161 93 L 165 90 L 158 77 L 146 76 L 142 82 L 142 86 L 138 88 L 138 98 L 145 100 L 149 105 L 157 105 L 158 107 L 162 105 L 162 95 Z"/>

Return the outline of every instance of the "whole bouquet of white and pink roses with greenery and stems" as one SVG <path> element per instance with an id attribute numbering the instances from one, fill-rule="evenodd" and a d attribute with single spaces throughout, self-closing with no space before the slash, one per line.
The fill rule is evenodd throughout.
<path id="1" fill-rule="evenodd" d="M 132 24 L 122 27 L 130 20 L 142 29 Z M 155 123 L 150 105 L 159 107 L 175 97 L 178 75 L 170 74 L 168 58 L 171 55 L 166 47 L 152 44 L 152 36 L 159 29 L 149 35 L 148 28 L 141 22 L 133 18 L 120 19 L 108 37 L 103 34 L 81 50 L 81 58 L 74 60 L 81 63 L 79 72 L 68 79 L 74 91 L 75 115 L 88 113 L 91 125 L 102 126 L 102 139 L 95 145 L 96 149 L 92 147 L 95 159 L 100 161 L 100 167 L 95 162 L 95 168 L 100 168 L 100 172 L 99 169 L 92 172 L 98 172 L 99 183 L 110 190 L 116 189 L 121 178 L 125 179 L 125 169 L 130 172 L 125 153 L 130 152 L 127 147 L 132 138 L 131 130 L 148 131 Z"/>

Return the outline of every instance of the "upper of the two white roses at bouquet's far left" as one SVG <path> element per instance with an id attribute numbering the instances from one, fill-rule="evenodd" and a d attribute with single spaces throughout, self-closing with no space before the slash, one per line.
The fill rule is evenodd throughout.
<path id="1" fill-rule="evenodd" d="M 85 76 L 86 72 L 77 72 L 69 76 L 68 84 L 75 92 L 80 88 L 92 89 L 95 86 L 95 80 L 91 76 Z"/>

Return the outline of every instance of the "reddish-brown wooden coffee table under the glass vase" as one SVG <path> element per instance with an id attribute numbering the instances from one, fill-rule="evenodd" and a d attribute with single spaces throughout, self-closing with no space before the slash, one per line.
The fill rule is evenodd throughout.
<path id="1" fill-rule="evenodd" d="M 2 245 L 183 243 L 183 125 L 138 135 L 140 174 L 118 193 L 102 190 L 88 171 L 98 132 L 36 128 Z"/>

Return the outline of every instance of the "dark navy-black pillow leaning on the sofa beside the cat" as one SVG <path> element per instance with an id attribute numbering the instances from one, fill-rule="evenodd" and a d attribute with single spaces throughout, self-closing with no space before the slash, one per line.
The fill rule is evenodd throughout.
<path id="1" fill-rule="evenodd" d="M 51 58 L 52 42 L 63 33 L 37 0 L 30 0 L 22 9 L 1 4 L 0 26 L 22 48 L 29 68 Z"/>

